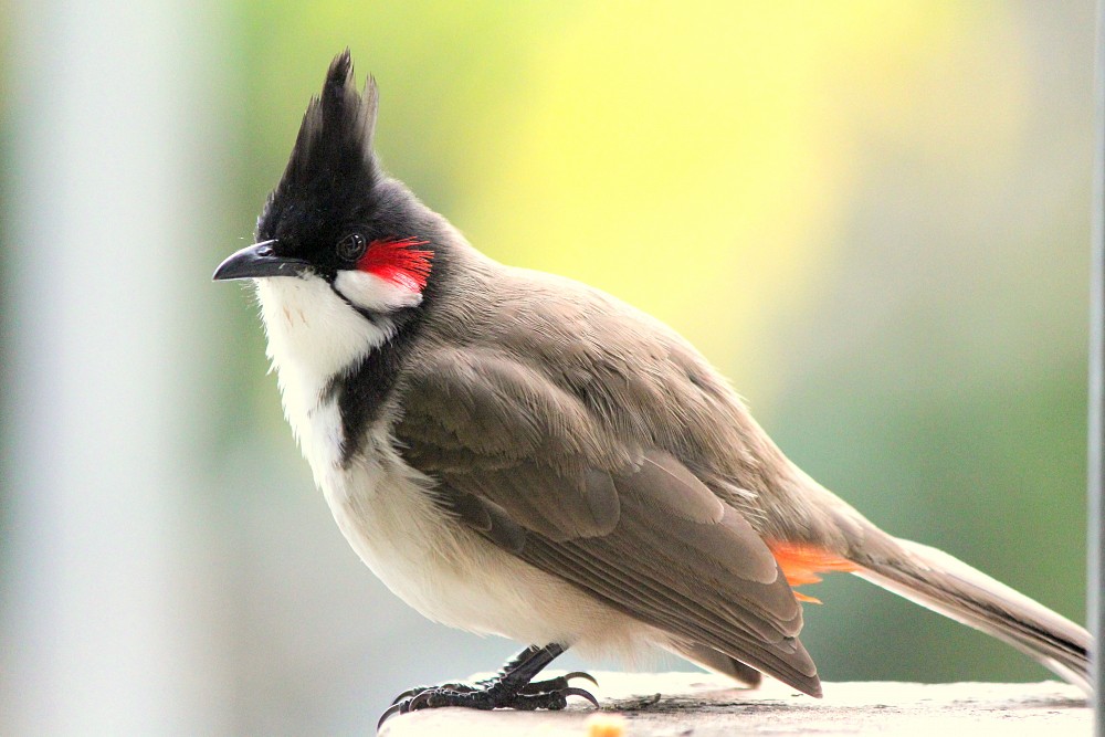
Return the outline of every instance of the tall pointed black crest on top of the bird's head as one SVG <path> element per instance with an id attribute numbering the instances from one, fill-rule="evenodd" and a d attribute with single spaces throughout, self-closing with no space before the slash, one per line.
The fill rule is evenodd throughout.
<path id="1" fill-rule="evenodd" d="M 257 220 L 259 240 L 309 250 L 303 234 L 326 235 L 335 215 L 355 217 L 381 178 L 372 151 L 378 104 L 376 80 L 357 92 L 349 50 L 334 57 L 322 95 L 307 106 L 280 183 Z"/>

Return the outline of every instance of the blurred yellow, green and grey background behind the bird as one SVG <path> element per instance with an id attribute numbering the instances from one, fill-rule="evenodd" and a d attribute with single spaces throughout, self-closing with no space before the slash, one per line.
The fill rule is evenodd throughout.
<path id="1" fill-rule="evenodd" d="M 225 686 L 220 729 L 364 734 L 393 693 L 514 650 L 424 622 L 361 567 L 284 424 L 251 296 L 202 284 L 250 240 L 347 45 L 379 83 L 385 166 L 473 244 L 659 316 L 876 524 L 1084 621 L 1090 0 L 183 12 L 198 46 L 175 72 L 199 110 L 186 168 L 204 204 L 202 240 L 170 262 L 191 284 L 172 310 L 199 336 L 181 504 L 208 550 L 197 642 Z M 9 102 L 31 14 L 6 28 Z M 6 241 L 10 294 L 25 244 Z M 23 555 L 0 541 L 11 607 Z M 1048 675 L 862 581 L 809 592 L 825 603 L 803 641 L 828 681 Z M 12 683 L 33 649 L 20 657 Z"/>

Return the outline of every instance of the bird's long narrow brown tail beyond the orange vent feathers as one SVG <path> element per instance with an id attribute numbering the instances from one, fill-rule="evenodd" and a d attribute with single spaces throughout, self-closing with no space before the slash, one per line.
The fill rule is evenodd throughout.
<path id="1" fill-rule="evenodd" d="M 877 552 L 846 556 L 857 576 L 1011 644 L 1091 693 L 1091 638 L 1083 628 L 941 550 L 865 531 L 861 550 Z"/>

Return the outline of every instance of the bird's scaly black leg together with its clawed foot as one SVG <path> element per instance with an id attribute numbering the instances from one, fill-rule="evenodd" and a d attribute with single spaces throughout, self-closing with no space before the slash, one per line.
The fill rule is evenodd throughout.
<path id="1" fill-rule="evenodd" d="M 582 677 L 594 683 L 586 673 L 569 673 L 548 681 L 534 682 L 541 670 L 564 653 L 562 645 L 530 645 L 512 657 L 494 677 L 474 685 L 449 683 L 441 686 L 404 691 L 380 717 L 380 724 L 394 715 L 440 706 L 466 706 L 476 709 L 562 709 L 568 696 L 580 696 L 598 706 L 590 693 L 568 685 L 568 680 Z"/>

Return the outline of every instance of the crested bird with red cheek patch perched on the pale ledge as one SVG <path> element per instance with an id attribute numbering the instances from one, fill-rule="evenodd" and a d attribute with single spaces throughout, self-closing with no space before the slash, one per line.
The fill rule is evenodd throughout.
<path id="1" fill-rule="evenodd" d="M 798 587 L 867 579 L 1090 689 L 1082 627 L 876 527 L 792 463 L 728 381 L 650 315 L 505 265 L 382 168 L 379 93 L 349 50 L 307 106 L 256 242 L 213 278 L 255 286 L 285 417 L 338 528 L 429 619 L 525 644 L 441 706 L 559 709 L 569 647 L 661 647 L 749 686 L 822 694 Z M 593 678 L 590 678 L 593 682 Z"/>

